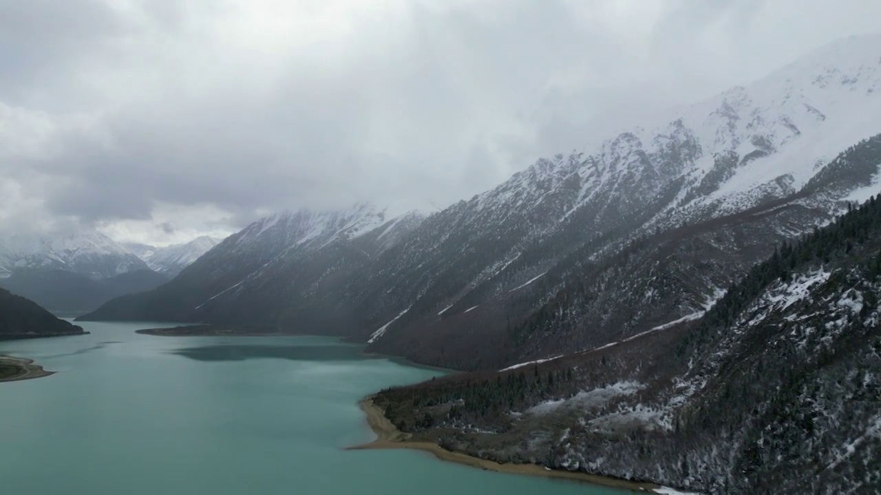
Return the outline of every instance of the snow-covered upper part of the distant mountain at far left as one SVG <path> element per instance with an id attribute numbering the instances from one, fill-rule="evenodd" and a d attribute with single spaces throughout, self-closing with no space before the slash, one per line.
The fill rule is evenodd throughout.
<path id="1" fill-rule="evenodd" d="M 0 277 L 18 270 L 64 270 L 98 280 L 136 270 L 146 263 L 97 231 L 52 236 L 13 235 L 0 240 Z"/>

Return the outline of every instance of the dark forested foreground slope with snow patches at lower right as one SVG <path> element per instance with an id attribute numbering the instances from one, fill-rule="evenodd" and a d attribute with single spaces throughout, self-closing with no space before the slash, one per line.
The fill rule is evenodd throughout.
<path id="1" fill-rule="evenodd" d="M 498 373 L 383 391 L 415 440 L 711 493 L 881 491 L 881 201 L 712 307 Z"/>

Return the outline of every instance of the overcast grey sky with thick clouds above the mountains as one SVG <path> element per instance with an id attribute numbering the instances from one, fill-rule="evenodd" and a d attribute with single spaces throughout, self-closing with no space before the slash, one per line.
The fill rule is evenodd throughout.
<path id="1" fill-rule="evenodd" d="M 445 206 L 877 32 L 877 0 L 0 0 L 0 232 Z M 604 122 L 600 119 L 600 122 Z"/>

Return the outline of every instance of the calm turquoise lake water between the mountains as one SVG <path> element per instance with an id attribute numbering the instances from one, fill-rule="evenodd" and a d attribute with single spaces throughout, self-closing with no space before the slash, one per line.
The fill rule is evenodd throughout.
<path id="1" fill-rule="evenodd" d="M 324 337 L 168 337 L 151 323 L 0 342 L 57 372 L 0 383 L 4 493 L 611 495 L 431 454 L 346 451 L 374 438 L 364 395 L 441 372 Z"/>

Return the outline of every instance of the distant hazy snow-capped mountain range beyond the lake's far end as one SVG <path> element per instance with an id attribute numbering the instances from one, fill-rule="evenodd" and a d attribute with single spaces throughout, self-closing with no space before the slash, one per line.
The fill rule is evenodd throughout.
<path id="1" fill-rule="evenodd" d="M 166 283 L 218 240 L 130 247 L 96 231 L 0 240 L 0 287 L 56 314 L 92 311 L 107 300 Z"/>

